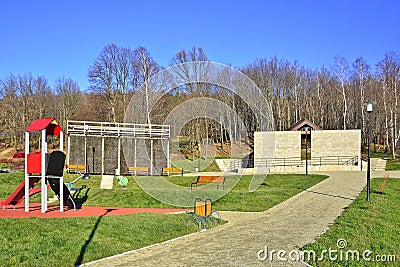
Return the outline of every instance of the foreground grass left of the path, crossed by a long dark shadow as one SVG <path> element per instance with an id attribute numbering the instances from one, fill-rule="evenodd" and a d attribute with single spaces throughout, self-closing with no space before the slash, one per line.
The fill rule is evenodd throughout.
<path id="1" fill-rule="evenodd" d="M 187 215 L 1 219 L 1 266 L 76 266 L 198 231 Z"/>

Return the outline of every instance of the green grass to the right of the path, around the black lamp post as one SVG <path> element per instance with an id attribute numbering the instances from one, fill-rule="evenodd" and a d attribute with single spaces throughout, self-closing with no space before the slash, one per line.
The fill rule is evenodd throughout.
<path id="1" fill-rule="evenodd" d="M 319 257 L 323 250 L 338 250 L 337 260 L 310 261 L 313 266 L 399 266 L 400 264 L 400 179 L 373 179 L 371 200 L 366 201 L 366 192 L 347 208 L 330 229 L 316 243 L 303 250 L 313 250 Z M 347 246 L 339 249 L 337 241 L 345 239 Z M 340 258 L 340 251 L 343 256 Z M 346 260 L 348 250 L 357 251 L 360 261 Z M 363 259 L 362 254 L 367 251 Z M 334 259 L 334 254 L 332 254 Z M 356 254 L 355 254 L 356 255 Z M 307 256 L 307 255 L 306 255 Z M 393 256 L 396 261 L 393 261 Z M 385 262 L 375 260 L 386 259 Z M 390 259 L 391 258 L 391 259 Z M 342 260 L 340 260 L 342 259 Z M 354 259 L 357 259 L 355 256 Z M 370 261 L 368 261 L 370 259 Z"/>

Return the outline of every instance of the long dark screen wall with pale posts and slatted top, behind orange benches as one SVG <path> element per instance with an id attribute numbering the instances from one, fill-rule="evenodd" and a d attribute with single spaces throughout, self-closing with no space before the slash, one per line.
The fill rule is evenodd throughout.
<path id="1" fill-rule="evenodd" d="M 67 166 L 83 165 L 86 173 L 101 175 L 154 175 L 170 165 L 169 138 L 169 125 L 68 121 Z M 121 160 L 121 146 L 133 152 L 125 153 L 128 163 Z"/>

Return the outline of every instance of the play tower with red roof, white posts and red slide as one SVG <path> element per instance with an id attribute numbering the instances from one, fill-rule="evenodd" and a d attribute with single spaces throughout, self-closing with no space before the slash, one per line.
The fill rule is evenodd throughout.
<path id="1" fill-rule="evenodd" d="M 33 132 L 41 132 L 41 151 L 31 152 L 29 135 Z M 60 150 L 47 153 L 48 136 L 60 137 Z M 60 212 L 64 211 L 64 204 L 73 205 L 76 209 L 74 199 L 64 184 L 63 170 L 66 155 L 63 150 L 63 131 L 55 118 L 44 118 L 33 121 L 25 130 L 25 178 L 14 193 L 1 204 L 3 209 L 6 205 L 14 207 L 25 200 L 25 212 L 29 212 L 29 197 L 41 192 L 41 212 L 47 209 L 47 189 L 51 188 L 60 200 Z M 40 188 L 35 188 L 41 181 Z M 49 182 L 49 185 L 47 185 Z"/>

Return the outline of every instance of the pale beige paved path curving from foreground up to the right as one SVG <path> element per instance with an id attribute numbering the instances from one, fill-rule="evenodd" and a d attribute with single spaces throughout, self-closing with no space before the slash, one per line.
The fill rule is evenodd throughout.
<path id="1" fill-rule="evenodd" d="M 318 174 L 330 178 L 265 212 L 222 212 L 229 224 L 87 265 L 299 266 L 261 261 L 257 253 L 266 246 L 269 252 L 289 252 L 313 241 L 357 197 L 366 180 L 365 172 Z"/>

